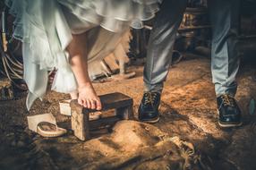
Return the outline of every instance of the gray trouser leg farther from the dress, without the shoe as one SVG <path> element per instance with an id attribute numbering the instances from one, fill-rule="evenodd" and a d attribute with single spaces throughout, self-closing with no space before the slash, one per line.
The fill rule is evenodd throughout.
<path id="1" fill-rule="evenodd" d="M 209 0 L 209 12 L 213 26 L 211 71 L 216 94 L 235 96 L 239 0 Z"/>

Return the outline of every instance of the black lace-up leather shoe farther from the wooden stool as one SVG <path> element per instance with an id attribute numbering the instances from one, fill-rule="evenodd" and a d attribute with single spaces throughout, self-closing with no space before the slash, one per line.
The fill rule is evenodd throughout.
<path id="1" fill-rule="evenodd" d="M 227 94 L 217 98 L 218 104 L 218 124 L 221 127 L 237 127 L 243 123 L 241 121 L 241 110 L 235 98 Z"/>

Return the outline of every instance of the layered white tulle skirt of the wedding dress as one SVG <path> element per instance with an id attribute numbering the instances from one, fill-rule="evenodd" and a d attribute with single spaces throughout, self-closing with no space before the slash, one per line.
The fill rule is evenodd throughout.
<path id="1" fill-rule="evenodd" d="M 161 0 L 5 0 L 15 16 L 13 37 L 23 42 L 27 106 L 42 98 L 47 72 L 56 69 L 52 89 L 69 93 L 77 82 L 66 47 L 73 34 L 87 32 L 88 63 L 110 54 L 130 27 L 154 17 Z M 93 69 L 90 69 L 90 76 Z"/>

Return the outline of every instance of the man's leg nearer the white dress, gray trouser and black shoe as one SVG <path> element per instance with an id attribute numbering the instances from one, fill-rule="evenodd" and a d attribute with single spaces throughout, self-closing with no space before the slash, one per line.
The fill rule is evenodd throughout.
<path id="1" fill-rule="evenodd" d="M 139 107 L 139 119 L 146 123 L 159 120 L 158 106 L 164 81 L 172 61 L 175 35 L 183 19 L 187 0 L 164 0 L 149 38 L 144 68 L 145 93 Z"/>

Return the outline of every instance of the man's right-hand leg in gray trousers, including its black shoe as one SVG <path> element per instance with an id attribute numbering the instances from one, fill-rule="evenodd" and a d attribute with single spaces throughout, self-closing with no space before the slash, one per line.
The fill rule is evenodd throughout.
<path id="1" fill-rule="evenodd" d="M 213 26 L 211 71 L 218 97 L 218 123 L 222 127 L 242 124 L 241 111 L 234 98 L 239 67 L 239 3 L 239 0 L 209 0 Z"/>

